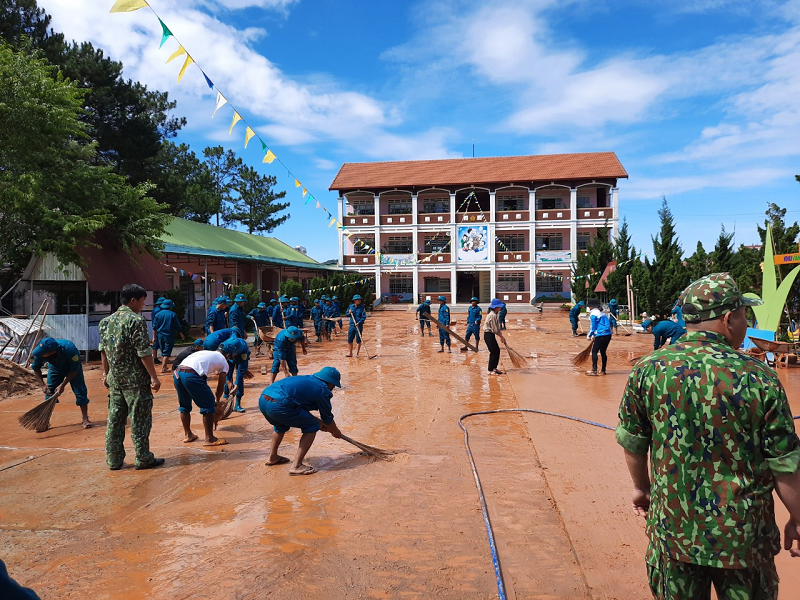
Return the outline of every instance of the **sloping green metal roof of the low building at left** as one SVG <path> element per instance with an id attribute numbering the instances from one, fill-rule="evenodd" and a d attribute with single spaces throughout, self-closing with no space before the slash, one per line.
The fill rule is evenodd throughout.
<path id="1" fill-rule="evenodd" d="M 326 268 L 277 238 L 252 235 L 177 217 L 167 226 L 162 240 L 165 252 Z"/>

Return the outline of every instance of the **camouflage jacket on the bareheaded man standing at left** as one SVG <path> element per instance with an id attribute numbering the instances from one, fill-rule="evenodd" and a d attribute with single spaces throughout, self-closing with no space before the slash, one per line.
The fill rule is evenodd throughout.
<path id="1" fill-rule="evenodd" d="M 109 386 L 118 388 L 150 387 L 150 375 L 141 358 L 153 353 L 147 321 L 127 306 L 100 321 L 100 350 L 108 361 Z"/>

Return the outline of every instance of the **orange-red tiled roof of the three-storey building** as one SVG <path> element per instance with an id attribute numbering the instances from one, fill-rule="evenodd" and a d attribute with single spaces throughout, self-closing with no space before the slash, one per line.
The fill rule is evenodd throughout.
<path id="1" fill-rule="evenodd" d="M 345 163 L 330 189 L 627 178 L 613 152 Z"/>

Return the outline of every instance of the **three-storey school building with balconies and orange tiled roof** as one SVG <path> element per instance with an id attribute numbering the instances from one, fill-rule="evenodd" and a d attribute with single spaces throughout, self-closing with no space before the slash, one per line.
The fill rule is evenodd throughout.
<path id="1" fill-rule="evenodd" d="M 339 260 L 390 301 L 566 299 L 578 253 L 616 235 L 627 177 L 613 152 L 345 163 Z"/>

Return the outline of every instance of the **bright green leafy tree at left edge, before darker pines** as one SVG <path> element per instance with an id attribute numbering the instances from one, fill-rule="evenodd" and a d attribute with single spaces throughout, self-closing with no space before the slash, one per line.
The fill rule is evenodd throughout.
<path id="1" fill-rule="evenodd" d="M 76 250 L 108 228 L 121 248 L 158 254 L 167 217 L 85 143 L 83 92 L 43 59 L 0 44 L 0 256 L 16 276 L 32 254 L 80 263 Z"/>

